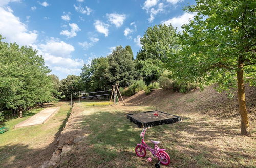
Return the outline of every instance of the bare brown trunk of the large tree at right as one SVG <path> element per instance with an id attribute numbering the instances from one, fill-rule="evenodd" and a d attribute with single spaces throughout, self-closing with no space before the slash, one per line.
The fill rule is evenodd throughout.
<path id="1" fill-rule="evenodd" d="M 238 80 L 238 105 L 239 105 L 239 113 L 241 117 L 241 134 L 249 136 L 249 119 L 246 111 L 245 104 L 245 92 L 244 92 L 244 77 L 243 77 L 243 67 L 244 61 L 243 58 L 240 57 L 238 61 L 238 71 L 237 71 L 237 80 Z"/>

